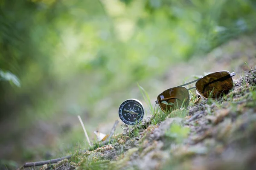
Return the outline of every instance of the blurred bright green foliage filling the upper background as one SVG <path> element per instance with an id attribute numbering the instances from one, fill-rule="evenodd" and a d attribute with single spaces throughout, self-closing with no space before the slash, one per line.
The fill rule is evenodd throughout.
<path id="1" fill-rule="evenodd" d="M 103 119 L 100 100 L 120 103 L 116 91 L 250 33 L 255 18 L 254 0 L 0 0 L 0 77 L 17 85 L 0 81 L 0 117 Z"/>

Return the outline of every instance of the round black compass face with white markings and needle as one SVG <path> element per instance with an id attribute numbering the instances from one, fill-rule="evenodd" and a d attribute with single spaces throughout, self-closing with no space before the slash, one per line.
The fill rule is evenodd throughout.
<path id="1" fill-rule="evenodd" d="M 136 125 L 144 116 L 142 103 L 137 99 L 125 100 L 119 107 L 119 117 L 126 125 Z"/>

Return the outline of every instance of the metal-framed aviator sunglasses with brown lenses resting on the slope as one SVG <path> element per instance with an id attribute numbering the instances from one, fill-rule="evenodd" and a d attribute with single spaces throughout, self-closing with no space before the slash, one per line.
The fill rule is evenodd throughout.
<path id="1" fill-rule="evenodd" d="M 188 82 L 175 88 L 169 88 L 157 96 L 156 103 L 164 112 L 170 112 L 177 108 L 189 105 L 189 90 L 196 88 L 197 94 L 206 99 L 218 99 L 226 95 L 233 88 L 233 79 L 236 73 L 218 71 L 208 74 L 200 79 Z M 187 89 L 186 85 L 195 83 L 195 87 Z"/>

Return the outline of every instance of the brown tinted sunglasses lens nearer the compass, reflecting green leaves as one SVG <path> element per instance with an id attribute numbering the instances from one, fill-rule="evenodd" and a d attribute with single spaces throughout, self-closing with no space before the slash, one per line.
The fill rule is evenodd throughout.
<path id="1" fill-rule="evenodd" d="M 181 106 L 189 104 L 189 92 L 184 87 L 170 88 L 157 96 L 160 108 L 165 111 L 173 111 Z"/>

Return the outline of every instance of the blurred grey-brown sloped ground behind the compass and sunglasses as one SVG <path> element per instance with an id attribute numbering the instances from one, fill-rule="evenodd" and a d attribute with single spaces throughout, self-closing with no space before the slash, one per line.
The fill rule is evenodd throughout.
<path id="1" fill-rule="evenodd" d="M 193 75 L 202 75 L 205 71 L 228 70 L 232 72 L 235 70 L 238 75 L 244 75 L 244 71 L 248 72 L 250 68 L 254 68 L 256 65 L 255 56 L 256 34 L 243 35 L 215 48 L 204 57 L 192 57 L 186 62 L 170 63 L 169 70 L 164 74 L 146 79 L 144 82 L 140 82 L 140 85 L 148 92 L 151 103 L 154 103 L 156 96 L 161 91 L 183 84 L 184 80 L 193 80 Z M 172 57 L 172 54 L 168 57 Z M 247 64 L 244 62 L 247 62 Z M 239 76 L 233 78 L 236 77 Z M 115 98 L 120 103 L 128 97 L 136 98 L 140 99 L 145 105 L 136 83 L 131 89 L 121 92 L 116 91 L 113 96 L 109 97 Z M 105 98 L 99 102 L 101 107 L 96 108 L 97 114 L 92 119 L 87 119 L 85 115 L 81 115 L 91 140 L 94 139 L 94 130 L 109 133 L 113 120 L 119 119 L 116 112 L 119 106 L 109 104 L 106 102 L 108 99 Z M 108 103 L 109 108 L 102 106 L 104 103 Z M 146 113 L 149 113 L 148 107 L 145 107 L 145 110 Z M 189 111 L 189 113 L 195 112 Z M 108 118 L 103 115 L 108 115 Z M 26 118 L 23 117 L 23 119 Z M 31 127 L 17 128 L 15 126 L 16 128 L 14 128 L 14 125 L 17 125 L 17 119 L 15 118 L 4 120 L 3 124 L 0 125 L 0 135 L 4 139 L 0 142 L 0 169 L 6 164 L 17 167 L 19 164 L 23 164 L 24 161 L 38 161 L 66 155 L 73 147 L 76 147 L 79 139 L 84 137 L 76 115 L 61 113 L 61 116 L 56 115 L 47 121 L 37 118 L 32 124 Z M 8 133 L 6 133 L 6 129 L 8 129 Z M 118 133 L 121 130 L 120 126 L 116 128 Z M 82 145 L 82 142 L 80 144 Z M 2 161 L 2 159 L 4 160 Z"/>

